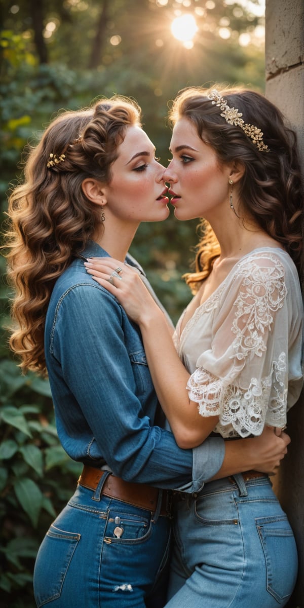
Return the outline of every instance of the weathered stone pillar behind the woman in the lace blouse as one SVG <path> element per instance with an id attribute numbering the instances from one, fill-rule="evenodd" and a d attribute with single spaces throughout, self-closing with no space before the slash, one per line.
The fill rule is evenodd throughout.
<path id="1" fill-rule="evenodd" d="M 297 131 L 304 167 L 304 1 L 266 0 L 266 97 Z M 299 553 L 299 576 L 288 608 L 304 608 L 304 393 L 288 414 L 292 443 L 274 489 L 288 514 Z"/>

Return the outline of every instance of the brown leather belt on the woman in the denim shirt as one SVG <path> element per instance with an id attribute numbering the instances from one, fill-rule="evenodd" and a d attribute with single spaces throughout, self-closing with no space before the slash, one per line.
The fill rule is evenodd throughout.
<path id="1" fill-rule="evenodd" d="M 78 483 L 85 488 L 95 490 L 104 474 L 105 471 L 85 465 Z M 122 500 L 122 502 L 128 503 L 128 505 L 138 506 L 140 509 L 154 513 L 159 492 L 158 488 L 153 488 L 143 483 L 125 482 L 122 478 L 110 474 L 103 484 L 101 493 L 103 496 Z M 170 516 L 170 494 L 170 490 L 162 490 L 162 505 L 159 513 L 162 516 Z"/>

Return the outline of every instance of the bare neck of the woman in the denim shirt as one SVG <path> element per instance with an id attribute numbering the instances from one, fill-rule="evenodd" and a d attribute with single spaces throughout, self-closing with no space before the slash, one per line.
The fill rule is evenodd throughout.
<path id="1" fill-rule="evenodd" d="M 94 232 L 93 240 L 116 260 L 125 261 L 139 224 L 128 224 L 106 217 Z"/>

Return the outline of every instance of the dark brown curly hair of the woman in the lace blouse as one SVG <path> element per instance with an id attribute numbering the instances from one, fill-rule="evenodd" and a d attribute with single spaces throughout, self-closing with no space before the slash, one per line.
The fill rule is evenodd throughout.
<path id="1" fill-rule="evenodd" d="M 303 184 L 297 137 L 282 113 L 266 97 L 242 88 L 215 87 L 230 108 L 242 113 L 245 123 L 263 132 L 269 152 L 260 151 L 244 131 L 230 125 L 221 109 L 208 98 L 211 89 L 190 87 L 179 92 L 169 112 L 171 125 L 181 117 L 191 120 L 199 137 L 215 150 L 219 164 L 238 161 L 244 167 L 240 199 L 245 214 L 285 247 L 303 278 Z M 195 272 L 185 275 L 196 291 L 220 253 L 210 225 L 203 220 L 202 238 L 196 247 Z"/>

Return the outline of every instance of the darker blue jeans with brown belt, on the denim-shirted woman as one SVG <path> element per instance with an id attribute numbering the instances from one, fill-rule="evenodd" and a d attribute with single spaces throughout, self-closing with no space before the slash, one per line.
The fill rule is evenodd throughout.
<path id="1" fill-rule="evenodd" d="M 114 534 L 117 520 L 123 530 Z M 38 607 L 161 608 L 171 523 L 78 486 L 37 554 Z"/>

